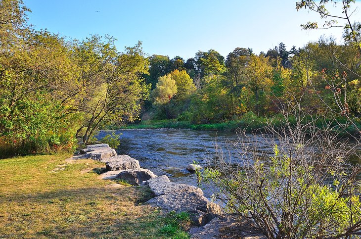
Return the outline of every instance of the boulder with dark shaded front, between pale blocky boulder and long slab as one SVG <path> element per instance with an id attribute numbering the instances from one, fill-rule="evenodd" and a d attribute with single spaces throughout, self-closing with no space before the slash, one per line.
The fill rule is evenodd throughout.
<path id="1" fill-rule="evenodd" d="M 155 175 L 152 171 L 149 169 L 129 169 L 124 170 L 121 173 L 117 175 L 117 179 L 123 179 L 127 181 L 131 185 L 140 185 L 143 181 L 147 181 L 151 178 L 155 178 L 157 175 Z"/>

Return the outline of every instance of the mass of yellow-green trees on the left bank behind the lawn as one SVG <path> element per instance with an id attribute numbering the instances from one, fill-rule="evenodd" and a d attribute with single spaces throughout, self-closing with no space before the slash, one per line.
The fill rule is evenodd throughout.
<path id="1" fill-rule="evenodd" d="M 108 123 L 133 121 L 149 87 L 140 43 L 83 41 L 27 24 L 21 1 L 0 1 L 0 157 L 72 150 Z"/>

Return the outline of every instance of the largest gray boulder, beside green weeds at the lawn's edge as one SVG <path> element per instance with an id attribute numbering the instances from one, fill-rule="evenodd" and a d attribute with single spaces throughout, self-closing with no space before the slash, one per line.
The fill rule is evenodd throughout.
<path id="1" fill-rule="evenodd" d="M 198 191 L 164 194 L 150 199 L 146 204 L 160 207 L 166 212 L 186 211 L 190 213 L 190 219 L 195 226 L 203 226 L 222 213 L 219 205 L 210 202 Z"/>

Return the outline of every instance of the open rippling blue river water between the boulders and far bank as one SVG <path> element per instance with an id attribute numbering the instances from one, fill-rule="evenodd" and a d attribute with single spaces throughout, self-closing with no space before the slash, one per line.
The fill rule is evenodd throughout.
<path id="1" fill-rule="evenodd" d="M 116 130 L 121 144 L 116 149 L 118 154 L 128 154 L 139 160 L 140 167 L 147 168 L 156 175 L 167 175 L 174 183 L 197 185 L 195 174 L 186 170 L 186 166 L 196 161 L 202 167 L 209 166 L 207 158 L 215 156 L 215 141 L 221 146 L 226 141 L 236 141 L 235 132 L 195 131 L 187 129 L 132 129 Z M 101 139 L 111 131 L 100 131 Z M 259 141 L 258 149 L 263 154 L 271 154 L 272 146 Z M 232 162 L 237 162 L 236 155 L 227 154 Z M 357 161 L 356 161 L 357 160 Z M 359 159 L 354 159 L 358 163 Z M 205 195 L 209 191 L 203 188 Z"/>

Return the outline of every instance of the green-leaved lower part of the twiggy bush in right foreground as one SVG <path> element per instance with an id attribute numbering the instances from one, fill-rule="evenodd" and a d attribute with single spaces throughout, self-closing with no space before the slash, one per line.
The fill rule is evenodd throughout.
<path id="1" fill-rule="evenodd" d="M 310 158 L 304 162 L 297 156 L 305 153 L 301 152 L 305 150 L 302 144 L 293 149 L 292 155 L 277 144 L 273 150 L 271 163 L 256 158 L 248 164 L 246 159 L 244 169 L 227 172 L 220 162 L 214 169 L 204 170 L 203 180 L 217 185 L 220 193 L 216 195 L 226 198 L 230 212 L 252 215 L 269 238 L 336 236 L 350 225 L 359 224 L 360 187 L 346 190 L 353 176 L 348 179 L 345 172 L 332 167 L 319 169 Z M 325 175 L 333 185 L 321 181 Z"/>

